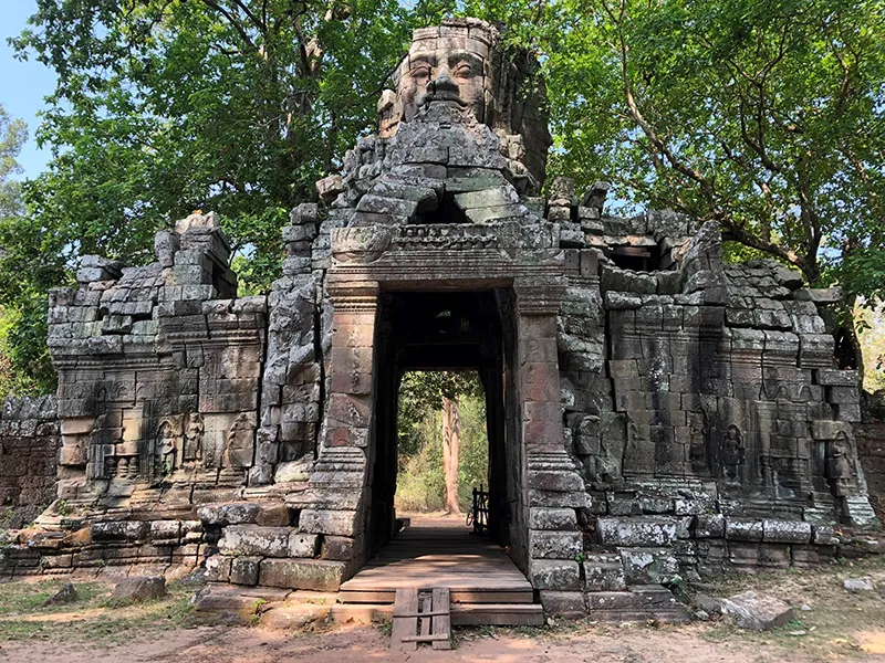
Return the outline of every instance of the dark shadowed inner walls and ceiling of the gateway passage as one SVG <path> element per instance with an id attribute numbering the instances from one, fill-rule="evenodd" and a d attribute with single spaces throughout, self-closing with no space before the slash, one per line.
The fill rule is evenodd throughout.
<path id="1" fill-rule="evenodd" d="M 372 444 L 372 511 L 368 550 L 377 552 L 397 530 L 397 411 L 407 371 L 462 371 L 479 375 L 486 399 L 489 444 L 489 534 L 509 541 L 511 509 L 520 495 L 521 460 L 516 440 L 512 387 L 510 296 L 503 290 L 477 292 L 386 292 L 381 297 L 375 338 L 375 421 Z M 509 425 L 507 422 L 511 422 Z"/>

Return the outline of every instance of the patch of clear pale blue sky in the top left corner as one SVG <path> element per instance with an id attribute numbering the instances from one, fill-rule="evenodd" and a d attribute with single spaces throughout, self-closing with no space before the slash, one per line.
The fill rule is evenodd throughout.
<path id="1" fill-rule="evenodd" d="M 48 149 L 38 149 L 34 133 L 40 124 L 38 113 L 43 107 L 43 97 L 54 87 L 54 74 L 34 60 L 19 62 L 7 43 L 8 38 L 24 30 L 35 10 L 35 0 L 0 0 L 0 15 L 3 17 L 0 21 L 0 104 L 12 117 L 28 123 L 28 143 L 19 155 L 24 169 L 18 176 L 20 179 L 37 177 L 50 159 Z"/>

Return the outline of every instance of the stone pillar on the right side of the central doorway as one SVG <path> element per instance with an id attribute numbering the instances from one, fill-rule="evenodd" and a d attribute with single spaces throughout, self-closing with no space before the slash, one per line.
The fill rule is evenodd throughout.
<path id="1" fill-rule="evenodd" d="M 583 535 L 575 508 L 589 505 L 584 482 L 565 450 L 556 356 L 562 278 L 520 281 L 517 295 L 518 398 L 522 424 L 523 504 L 529 579 L 544 611 L 585 612 L 579 557 Z"/>

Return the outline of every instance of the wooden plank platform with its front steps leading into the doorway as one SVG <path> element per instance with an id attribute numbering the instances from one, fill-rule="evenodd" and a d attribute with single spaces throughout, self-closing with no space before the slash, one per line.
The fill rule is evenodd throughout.
<path id="1" fill-rule="evenodd" d="M 448 589 L 452 624 L 538 625 L 541 606 L 525 576 L 493 543 L 464 523 L 421 518 L 341 586 L 336 612 L 391 611 L 397 590 Z M 388 608 L 385 608 L 388 607 Z"/>

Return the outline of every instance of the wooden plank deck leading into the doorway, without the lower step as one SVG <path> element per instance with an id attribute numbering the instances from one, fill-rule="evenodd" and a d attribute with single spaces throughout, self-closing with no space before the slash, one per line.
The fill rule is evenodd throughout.
<path id="1" fill-rule="evenodd" d="M 448 587 L 454 603 L 531 603 L 532 587 L 504 550 L 462 517 L 415 517 L 356 576 L 341 601 L 392 603 L 398 588 Z"/>

